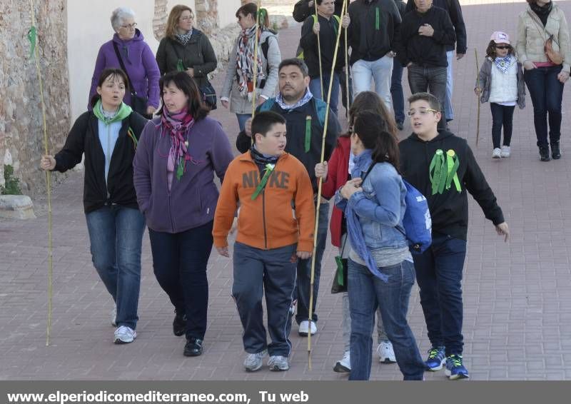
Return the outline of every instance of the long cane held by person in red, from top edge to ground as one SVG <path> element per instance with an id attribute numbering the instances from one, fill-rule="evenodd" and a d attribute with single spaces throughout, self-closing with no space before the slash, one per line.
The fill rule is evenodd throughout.
<path id="1" fill-rule="evenodd" d="M 345 16 L 347 12 L 347 0 L 343 0 L 341 14 Z M 339 27 L 341 28 L 341 27 Z M 337 52 L 339 49 L 339 41 L 341 39 L 341 29 L 337 32 L 337 41 L 335 42 L 335 50 L 333 51 L 333 62 L 331 64 L 331 74 L 329 76 L 329 88 L 327 91 L 327 108 L 325 109 L 325 124 L 323 125 L 323 136 L 321 136 L 321 158 L 320 163 L 325 159 L 325 136 L 327 135 L 327 127 L 329 121 L 329 103 L 331 101 L 331 89 L 333 87 L 333 73 L 335 72 L 335 62 L 337 61 Z M 317 251 L 317 231 L 319 226 L 319 208 L 321 206 L 321 186 L 323 181 L 318 180 L 317 206 L 315 206 L 315 228 L 313 231 L 313 253 L 311 254 L 311 276 L 309 286 L 309 315 L 308 315 L 308 368 L 311 370 L 311 323 L 313 321 L 313 281 L 315 279 L 315 252 Z"/>

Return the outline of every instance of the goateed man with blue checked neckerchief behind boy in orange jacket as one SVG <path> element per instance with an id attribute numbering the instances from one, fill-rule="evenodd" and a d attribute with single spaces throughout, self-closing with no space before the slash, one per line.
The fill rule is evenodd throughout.
<path id="1" fill-rule="evenodd" d="M 278 72 L 279 94 L 275 99 L 268 99 L 256 111 L 274 111 L 285 118 L 288 143 L 285 151 L 298 158 L 307 168 L 313 192 L 317 195 L 318 181 L 315 178 L 315 164 L 321 160 L 321 143 L 323 139 L 323 126 L 327 104 L 315 99 L 308 89 L 308 66 L 303 60 L 293 58 L 281 61 Z M 341 128 L 335 113 L 329 110 L 328 129 L 325 135 L 325 161 L 327 161 L 337 143 L 337 136 Z M 251 120 L 246 122 L 246 130 L 238 134 L 236 148 L 241 153 L 251 147 Z M 315 252 L 315 273 L 313 281 L 313 313 L 309 322 L 309 295 L 311 258 L 298 260 L 297 300 L 298 313 L 295 320 L 299 325 L 298 333 L 302 336 L 317 332 L 315 313 L 319 291 L 319 278 L 321 273 L 321 258 L 325 251 L 327 241 L 327 228 L 329 222 L 329 203 L 321 198 L 319 208 L 319 226 L 317 232 L 317 251 Z"/>

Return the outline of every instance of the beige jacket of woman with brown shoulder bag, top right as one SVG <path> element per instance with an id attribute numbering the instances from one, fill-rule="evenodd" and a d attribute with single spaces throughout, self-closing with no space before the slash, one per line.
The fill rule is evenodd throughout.
<path id="1" fill-rule="evenodd" d="M 525 61 L 546 62 L 544 45 L 553 34 L 553 49 L 563 56 L 563 70 L 570 71 L 571 64 L 571 41 L 569 38 L 569 28 L 563 11 L 553 3 L 553 8 L 547 17 L 545 29 L 540 18 L 535 14 L 530 6 L 520 13 L 517 22 L 517 59 L 523 64 Z"/>

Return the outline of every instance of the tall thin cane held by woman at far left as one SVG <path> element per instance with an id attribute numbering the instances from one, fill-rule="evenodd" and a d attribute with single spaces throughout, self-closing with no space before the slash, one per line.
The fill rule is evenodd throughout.
<path id="1" fill-rule="evenodd" d="M 40 103 L 41 103 L 41 125 L 44 131 L 44 153 L 48 154 L 49 150 L 48 150 L 48 129 L 46 125 L 46 103 L 44 101 L 44 83 L 41 79 L 39 47 L 36 46 L 37 29 L 36 29 L 36 12 L 34 11 L 34 0 L 30 0 L 30 14 L 31 14 L 31 27 L 28 31 L 28 39 L 30 41 L 30 58 L 34 58 L 36 61 L 36 74 L 38 76 Z M 48 201 L 48 321 L 46 325 L 46 346 L 48 346 L 49 336 L 51 332 L 51 301 L 53 295 L 53 276 L 54 276 L 50 171 L 46 171 L 46 194 Z"/>

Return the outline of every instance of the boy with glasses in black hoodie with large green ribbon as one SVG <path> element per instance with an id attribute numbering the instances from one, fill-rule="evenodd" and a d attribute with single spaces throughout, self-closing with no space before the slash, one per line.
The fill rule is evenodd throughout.
<path id="1" fill-rule="evenodd" d="M 440 102 L 428 93 L 408 99 L 413 134 L 399 143 L 403 178 L 428 199 L 433 244 L 414 255 L 420 305 L 432 348 L 426 365 L 446 365 L 450 380 L 468 378 L 463 365 L 462 271 L 468 233 L 468 194 L 474 197 L 499 235 L 510 237 L 502 209 L 477 165 L 468 142 L 438 129 Z"/>

